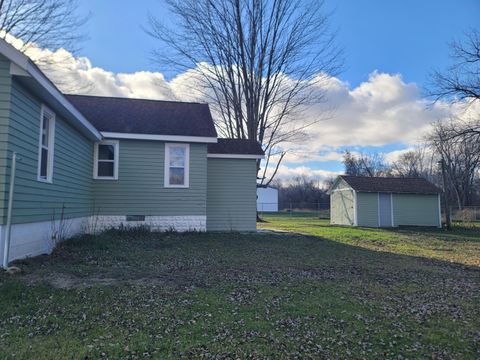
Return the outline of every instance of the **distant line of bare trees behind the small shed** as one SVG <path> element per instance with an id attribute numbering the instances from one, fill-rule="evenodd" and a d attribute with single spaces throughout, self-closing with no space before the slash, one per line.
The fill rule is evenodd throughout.
<path id="1" fill-rule="evenodd" d="M 345 152 L 345 174 L 352 176 L 422 177 L 438 187 L 447 188 L 449 206 L 463 209 L 480 206 L 480 138 L 471 135 L 450 136 L 450 122 L 432 126 L 426 144 L 400 154 L 387 162 L 380 153 Z M 458 127 L 454 127 L 458 129 Z M 445 170 L 445 186 L 442 176 Z M 290 182 L 275 180 L 279 209 L 329 208 L 327 190 L 334 178 L 324 182 L 299 176 Z"/>

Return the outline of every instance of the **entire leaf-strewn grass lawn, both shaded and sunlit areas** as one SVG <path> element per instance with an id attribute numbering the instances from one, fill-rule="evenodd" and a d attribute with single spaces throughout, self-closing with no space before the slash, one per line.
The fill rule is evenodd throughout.
<path id="1" fill-rule="evenodd" d="M 0 275 L 7 358 L 480 357 L 480 232 L 111 231 Z"/>

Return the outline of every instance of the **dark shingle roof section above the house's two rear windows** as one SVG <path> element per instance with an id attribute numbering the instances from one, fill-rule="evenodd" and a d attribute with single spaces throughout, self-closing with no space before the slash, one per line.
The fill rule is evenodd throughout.
<path id="1" fill-rule="evenodd" d="M 207 104 L 65 96 L 101 132 L 217 137 Z"/>

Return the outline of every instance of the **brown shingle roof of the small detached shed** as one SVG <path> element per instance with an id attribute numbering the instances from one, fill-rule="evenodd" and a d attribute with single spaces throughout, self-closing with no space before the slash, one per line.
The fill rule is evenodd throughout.
<path id="1" fill-rule="evenodd" d="M 424 178 L 363 177 L 341 175 L 354 190 L 359 192 L 387 192 L 404 194 L 438 194 L 438 187 Z"/>

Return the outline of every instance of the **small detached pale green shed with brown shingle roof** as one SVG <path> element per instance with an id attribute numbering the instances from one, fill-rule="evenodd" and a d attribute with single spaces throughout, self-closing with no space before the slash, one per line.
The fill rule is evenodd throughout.
<path id="1" fill-rule="evenodd" d="M 330 222 L 441 227 L 440 193 L 422 178 L 339 176 L 329 189 Z"/>

